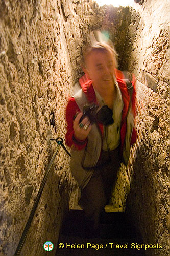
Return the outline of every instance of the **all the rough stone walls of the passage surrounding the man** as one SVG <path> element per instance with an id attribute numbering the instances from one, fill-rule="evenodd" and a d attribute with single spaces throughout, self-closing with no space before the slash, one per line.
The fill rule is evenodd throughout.
<path id="1" fill-rule="evenodd" d="M 95 28 L 110 32 L 119 68 L 137 79 L 138 140 L 113 203 L 124 209 L 131 187 L 127 212 L 145 244 L 163 247 L 147 255 L 167 255 L 169 6 L 165 0 L 136 2 L 135 9 L 99 9 L 88 0 L 1 1 L 1 255 L 14 254 L 56 147 L 49 139 L 64 138 L 65 106 L 82 74 L 86 35 Z M 42 246 L 49 240 L 56 249 L 70 194 L 77 194 L 68 164 L 61 148 L 21 255 L 45 255 Z"/>

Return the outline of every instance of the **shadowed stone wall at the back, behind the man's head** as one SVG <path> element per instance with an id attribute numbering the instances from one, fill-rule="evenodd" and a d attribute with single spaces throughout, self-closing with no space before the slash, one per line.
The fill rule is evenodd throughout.
<path id="1" fill-rule="evenodd" d="M 118 54 L 118 68 L 128 70 L 128 64 L 133 50 L 133 42 L 136 36 L 136 28 L 139 23 L 139 15 L 132 12 L 129 7 L 104 6 L 105 16 L 102 29 L 109 33 Z M 131 27 L 133 25 L 134 33 Z M 105 32 L 106 33 L 106 32 Z M 131 35 L 130 35 L 131 34 Z"/>

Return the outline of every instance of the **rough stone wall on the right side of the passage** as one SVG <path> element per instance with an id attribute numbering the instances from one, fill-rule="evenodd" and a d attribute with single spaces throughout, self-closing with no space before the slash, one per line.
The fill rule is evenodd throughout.
<path id="1" fill-rule="evenodd" d="M 138 140 L 128 167 L 134 175 L 127 211 L 143 243 L 162 246 L 147 250 L 150 256 L 168 255 L 169 249 L 169 7 L 168 1 L 148 0 L 132 10 L 140 15 L 128 63 L 137 78 Z"/>

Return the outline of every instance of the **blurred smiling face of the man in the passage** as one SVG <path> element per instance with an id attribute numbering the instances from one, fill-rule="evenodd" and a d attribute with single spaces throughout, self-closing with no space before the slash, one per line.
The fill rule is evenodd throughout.
<path id="1" fill-rule="evenodd" d="M 113 54 L 106 50 L 95 50 L 86 57 L 86 73 L 97 90 L 113 85 L 114 74 Z"/>

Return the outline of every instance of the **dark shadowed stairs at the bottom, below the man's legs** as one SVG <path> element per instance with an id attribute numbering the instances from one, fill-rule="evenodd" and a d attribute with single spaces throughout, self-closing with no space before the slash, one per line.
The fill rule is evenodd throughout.
<path id="1" fill-rule="evenodd" d="M 56 256 L 144 256 L 144 249 L 139 249 L 141 244 L 142 238 L 125 212 L 104 213 L 96 236 L 87 238 L 84 212 L 70 210 L 60 232 Z"/>

